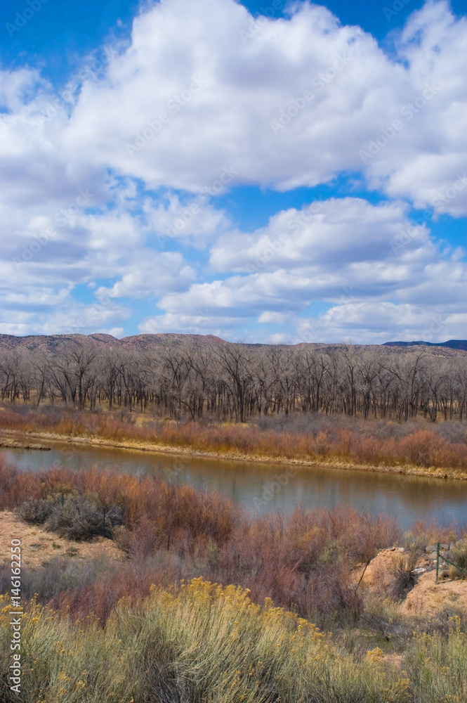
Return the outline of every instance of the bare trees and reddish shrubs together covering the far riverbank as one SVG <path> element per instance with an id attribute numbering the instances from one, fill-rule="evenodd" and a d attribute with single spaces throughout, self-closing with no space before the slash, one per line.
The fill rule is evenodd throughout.
<path id="1" fill-rule="evenodd" d="M 0 430 L 467 479 L 467 353 L 58 335 L 0 349 Z M 445 355 L 449 352 L 449 356 Z"/>

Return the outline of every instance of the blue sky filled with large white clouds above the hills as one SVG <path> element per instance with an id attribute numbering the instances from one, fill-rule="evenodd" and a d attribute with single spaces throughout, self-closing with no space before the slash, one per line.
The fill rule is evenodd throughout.
<path id="1" fill-rule="evenodd" d="M 467 336 L 459 1 L 0 10 L 0 333 Z"/>

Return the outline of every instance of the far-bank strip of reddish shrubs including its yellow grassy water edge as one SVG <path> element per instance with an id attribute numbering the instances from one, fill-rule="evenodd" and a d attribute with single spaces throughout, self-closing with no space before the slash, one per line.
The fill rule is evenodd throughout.
<path id="1" fill-rule="evenodd" d="M 322 413 L 262 422 L 176 421 L 126 411 L 0 407 L 0 444 L 21 435 L 46 441 L 189 456 L 467 479 L 466 426 L 413 418 L 359 420 Z M 5 446 L 8 439 L 5 441 Z"/>

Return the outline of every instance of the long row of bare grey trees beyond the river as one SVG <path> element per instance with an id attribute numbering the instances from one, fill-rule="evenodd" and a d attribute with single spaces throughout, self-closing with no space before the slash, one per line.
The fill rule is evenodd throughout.
<path id="1" fill-rule="evenodd" d="M 48 354 L 0 350 L 2 401 L 126 408 L 241 422 L 320 411 L 462 420 L 467 359 L 367 347 L 255 347 L 187 341 L 150 352 L 70 343 Z"/>

